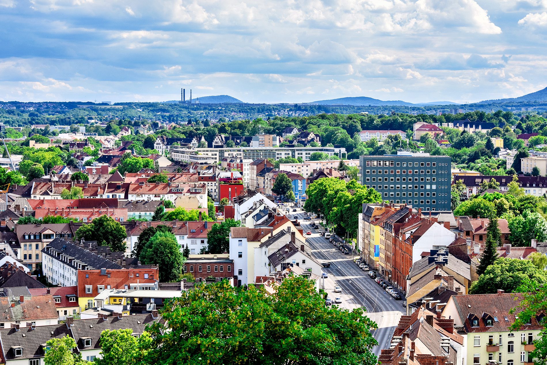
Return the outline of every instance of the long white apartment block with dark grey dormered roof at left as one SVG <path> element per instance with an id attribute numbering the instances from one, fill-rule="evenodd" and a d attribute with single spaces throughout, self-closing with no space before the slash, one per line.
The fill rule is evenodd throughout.
<path id="1" fill-rule="evenodd" d="M 54 285 L 76 286 L 79 270 L 103 268 L 121 269 L 121 265 L 59 237 L 42 250 L 42 274 Z"/>

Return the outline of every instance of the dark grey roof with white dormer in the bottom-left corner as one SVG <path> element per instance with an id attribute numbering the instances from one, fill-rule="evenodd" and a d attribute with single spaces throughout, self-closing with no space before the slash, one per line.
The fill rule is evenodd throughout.
<path id="1" fill-rule="evenodd" d="M 43 344 L 52 338 L 63 338 L 70 335 L 66 325 L 51 325 L 38 327 L 21 327 L 0 329 L 2 351 L 5 360 L 44 357 Z M 22 347 L 23 355 L 15 357 L 13 347 Z"/>

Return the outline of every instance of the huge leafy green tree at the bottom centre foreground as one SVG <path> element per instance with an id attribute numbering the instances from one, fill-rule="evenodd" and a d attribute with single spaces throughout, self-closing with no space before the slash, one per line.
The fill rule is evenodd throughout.
<path id="1" fill-rule="evenodd" d="M 357 308 L 325 306 L 313 282 L 288 277 L 268 295 L 233 288 L 224 280 L 197 285 L 164 306 L 149 328 L 147 364 L 364 364 L 374 365 L 370 334 L 376 324 Z"/>

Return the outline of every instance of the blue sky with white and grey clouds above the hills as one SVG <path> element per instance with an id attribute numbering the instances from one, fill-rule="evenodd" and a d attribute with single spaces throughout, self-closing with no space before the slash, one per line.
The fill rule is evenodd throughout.
<path id="1" fill-rule="evenodd" d="M 0 0 L 0 101 L 475 102 L 547 86 L 547 0 Z"/>

